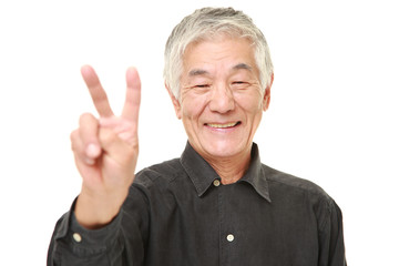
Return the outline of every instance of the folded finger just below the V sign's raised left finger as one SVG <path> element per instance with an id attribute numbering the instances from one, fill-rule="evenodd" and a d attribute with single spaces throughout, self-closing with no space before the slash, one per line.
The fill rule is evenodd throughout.
<path id="1" fill-rule="evenodd" d="M 79 120 L 79 135 L 83 143 L 84 156 L 95 160 L 101 155 L 99 141 L 99 121 L 90 113 L 82 114 Z"/>

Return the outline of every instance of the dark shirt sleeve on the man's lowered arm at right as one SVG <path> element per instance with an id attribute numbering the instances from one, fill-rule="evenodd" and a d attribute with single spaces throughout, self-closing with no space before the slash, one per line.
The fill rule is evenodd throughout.
<path id="1" fill-rule="evenodd" d="M 342 214 L 330 200 L 319 229 L 319 266 L 346 266 Z"/>

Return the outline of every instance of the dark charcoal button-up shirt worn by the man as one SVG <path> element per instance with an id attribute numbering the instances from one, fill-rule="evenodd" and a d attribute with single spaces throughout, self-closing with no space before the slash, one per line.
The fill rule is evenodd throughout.
<path id="1" fill-rule="evenodd" d="M 260 163 L 221 184 L 187 144 L 136 174 L 120 214 L 89 231 L 72 209 L 57 223 L 49 265 L 342 266 L 341 212 L 319 186 Z"/>

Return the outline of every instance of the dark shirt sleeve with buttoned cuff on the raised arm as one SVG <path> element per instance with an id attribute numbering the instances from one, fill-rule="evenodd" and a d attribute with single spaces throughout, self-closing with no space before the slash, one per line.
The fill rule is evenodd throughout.
<path id="1" fill-rule="evenodd" d="M 73 203 L 55 225 L 48 266 L 143 265 L 147 232 L 145 205 L 141 193 L 132 187 L 120 213 L 110 224 L 100 229 L 86 229 L 78 223 Z"/>

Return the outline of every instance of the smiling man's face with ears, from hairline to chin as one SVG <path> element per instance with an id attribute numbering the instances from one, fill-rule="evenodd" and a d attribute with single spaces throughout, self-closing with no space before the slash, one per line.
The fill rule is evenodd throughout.
<path id="1" fill-rule="evenodd" d="M 250 151 L 269 88 L 263 93 L 249 41 L 221 37 L 187 47 L 181 99 L 172 100 L 194 150 L 228 158 Z"/>

